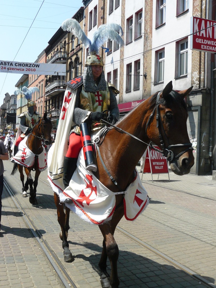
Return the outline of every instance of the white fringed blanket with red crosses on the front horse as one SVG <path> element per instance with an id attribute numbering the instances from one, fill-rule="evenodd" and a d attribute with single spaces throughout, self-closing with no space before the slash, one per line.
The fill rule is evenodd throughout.
<path id="1" fill-rule="evenodd" d="M 51 151 L 49 150 L 48 157 L 50 157 Z M 54 192 L 58 194 L 60 202 L 64 202 L 68 197 L 73 200 L 73 205 L 65 204 L 82 219 L 90 220 L 94 224 L 102 224 L 104 221 L 111 219 L 115 210 L 116 193 L 107 189 L 91 171 L 86 170 L 83 150 L 79 154 L 77 169 L 69 186 L 64 191 L 58 186 L 60 178 L 54 179 L 49 175 L 49 171 L 48 180 Z M 124 194 L 124 216 L 127 220 L 132 221 L 148 204 L 148 195 L 142 186 L 137 171 L 133 182 L 124 191 Z"/>

